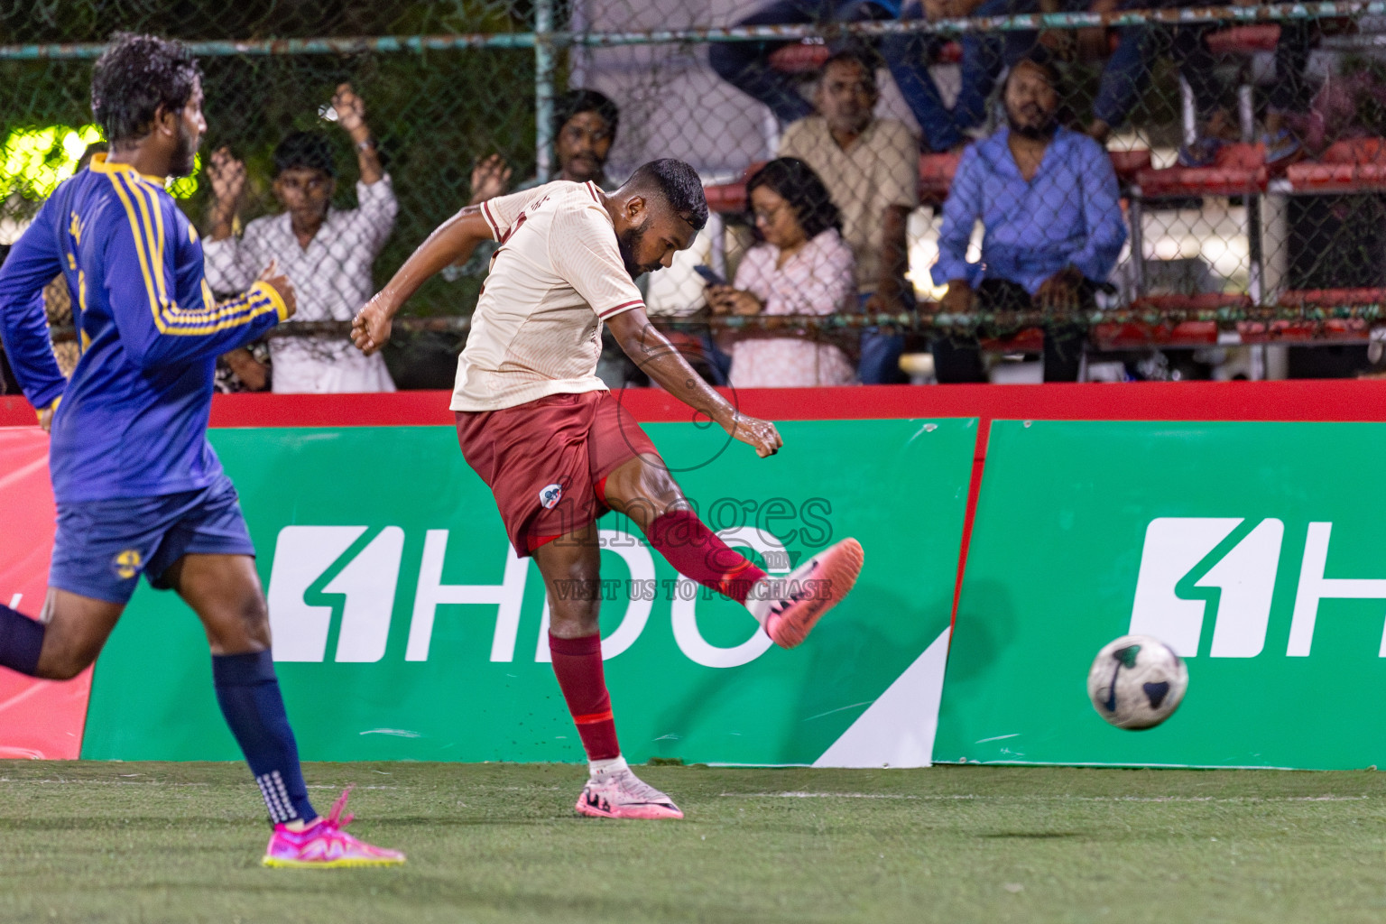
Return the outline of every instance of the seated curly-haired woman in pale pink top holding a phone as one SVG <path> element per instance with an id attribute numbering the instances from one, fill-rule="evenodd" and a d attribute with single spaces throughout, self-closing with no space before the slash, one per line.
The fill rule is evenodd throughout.
<path id="1" fill-rule="evenodd" d="M 814 169 L 798 158 L 779 158 L 746 184 L 758 242 L 742 259 L 733 285 L 712 285 L 714 314 L 833 314 L 855 310 L 852 251 L 840 234 L 837 206 Z M 768 326 L 729 330 L 733 388 L 850 385 L 851 360 L 822 332 Z"/>

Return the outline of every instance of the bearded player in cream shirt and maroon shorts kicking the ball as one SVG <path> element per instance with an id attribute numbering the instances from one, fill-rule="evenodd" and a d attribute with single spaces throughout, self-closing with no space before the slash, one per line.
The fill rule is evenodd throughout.
<path id="1" fill-rule="evenodd" d="M 861 571 L 861 546 L 844 539 L 787 578 L 766 578 L 703 525 L 650 438 L 621 420 L 596 375 L 610 326 L 671 395 L 761 457 L 779 450 L 773 424 L 732 407 L 650 326 L 635 288 L 636 276 L 668 267 L 705 222 L 697 173 L 674 159 L 646 163 L 614 193 L 559 180 L 502 195 L 434 231 L 352 324 L 356 346 L 374 353 L 424 280 L 482 241 L 500 241 L 457 360 L 452 410 L 462 453 L 491 486 L 510 544 L 543 575 L 553 672 L 589 761 L 577 810 L 597 817 L 683 817 L 636 779 L 617 744 L 597 630 L 597 517 L 629 517 L 679 574 L 743 604 L 784 648 L 804 640 Z"/>

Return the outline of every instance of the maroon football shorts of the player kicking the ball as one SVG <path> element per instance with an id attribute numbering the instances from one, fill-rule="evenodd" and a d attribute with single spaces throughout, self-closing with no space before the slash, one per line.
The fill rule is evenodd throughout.
<path id="1" fill-rule="evenodd" d="M 604 389 L 456 414 L 462 454 L 491 486 L 520 556 L 604 514 L 596 485 L 636 456 L 658 454 Z"/>

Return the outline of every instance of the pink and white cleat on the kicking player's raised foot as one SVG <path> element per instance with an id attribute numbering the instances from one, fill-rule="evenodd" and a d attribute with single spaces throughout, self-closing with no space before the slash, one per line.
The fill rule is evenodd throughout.
<path id="1" fill-rule="evenodd" d="M 857 583 L 863 561 L 861 543 L 843 539 L 786 576 L 757 582 L 746 605 L 771 641 L 793 648 L 808 637 L 825 612 L 843 601 Z"/>

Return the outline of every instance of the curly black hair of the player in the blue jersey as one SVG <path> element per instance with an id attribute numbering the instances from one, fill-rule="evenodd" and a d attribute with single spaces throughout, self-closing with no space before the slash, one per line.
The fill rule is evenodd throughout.
<path id="1" fill-rule="evenodd" d="M 91 71 L 91 114 L 107 141 L 119 147 L 148 134 L 159 107 L 180 114 L 201 76 L 180 42 L 116 32 Z"/>

